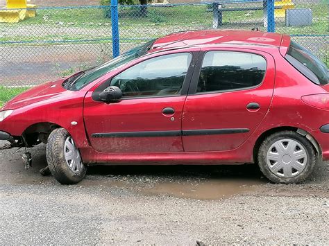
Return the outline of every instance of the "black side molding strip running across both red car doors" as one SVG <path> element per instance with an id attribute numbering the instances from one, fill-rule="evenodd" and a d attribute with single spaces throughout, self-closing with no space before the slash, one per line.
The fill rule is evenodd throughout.
<path id="1" fill-rule="evenodd" d="M 215 134 L 235 134 L 249 132 L 248 128 L 224 128 L 224 129 L 204 129 L 204 130 L 173 130 L 173 131 L 146 131 L 146 132 L 108 132 L 93 133 L 92 137 L 180 137 L 180 136 L 199 136 Z"/>

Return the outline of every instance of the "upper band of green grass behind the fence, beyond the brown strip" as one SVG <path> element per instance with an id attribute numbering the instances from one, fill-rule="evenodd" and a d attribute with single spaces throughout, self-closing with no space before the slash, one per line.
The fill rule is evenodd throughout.
<path id="1" fill-rule="evenodd" d="M 256 3 L 258 4 L 258 3 Z M 239 6 L 239 5 L 238 5 Z M 212 11 L 207 6 L 149 7 L 148 14 L 140 15 L 139 8 L 119 7 L 120 38 L 152 38 L 175 30 L 212 27 Z M 312 26 L 286 27 L 284 19 L 276 19 L 276 30 L 289 34 L 323 35 L 328 31 L 328 6 L 298 4 L 295 8 L 311 8 Z M 110 9 L 110 8 L 108 8 Z M 0 24 L 0 42 L 8 41 L 67 41 L 78 39 L 110 39 L 111 20 L 104 16 L 103 8 L 37 10 L 37 17 L 17 24 Z M 247 28 L 259 26 L 262 30 L 262 10 L 223 12 L 222 28 Z M 51 28 L 54 28 L 53 31 Z M 66 29 L 65 28 L 69 28 Z M 22 30 L 25 30 L 22 35 Z"/>

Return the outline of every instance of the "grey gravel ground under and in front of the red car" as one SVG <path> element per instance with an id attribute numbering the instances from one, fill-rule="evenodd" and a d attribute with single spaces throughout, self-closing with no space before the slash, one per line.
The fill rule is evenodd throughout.
<path id="1" fill-rule="evenodd" d="M 244 165 L 90 167 L 62 186 L 38 174 L 44 145 L 29 170 L 22 152 L 0 150 L 1 245 L 329 244 L 325 162 L 300 185 Z"/>

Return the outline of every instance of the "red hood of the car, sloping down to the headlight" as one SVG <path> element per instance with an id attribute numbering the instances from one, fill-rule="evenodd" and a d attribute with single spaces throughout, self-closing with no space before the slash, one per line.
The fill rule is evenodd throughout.
<path id="1" fill-rule="evenodd" d="M 37 87 L 28 89 L 27 91 L 24 91 L 22 94 L 19 94 L 18 96 L 15 96 L 15 98 L 12 98 L 10 101 L 8 101 L 8 103 L 6 103 L 1 110 L 17 109 L 32 103 L 47 100 L 49 98 L 55 98 L 62 94 L 62 92 L 66 91 L 62 87 L 63 81 L 64 79 L 46 82 L 42 85 L 38 85 Z"/>

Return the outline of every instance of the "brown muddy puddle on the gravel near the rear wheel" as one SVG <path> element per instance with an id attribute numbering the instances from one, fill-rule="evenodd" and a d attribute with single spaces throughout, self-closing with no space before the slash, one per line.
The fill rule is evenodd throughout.
<path id="1" fill-rule="evenodd" d="M 262 179 L 207 179 L 204 182 L 160 183 L 142 192 L 151 195 L 172 195 L 197 200 L 218 200 L 257 191 Z"/>

